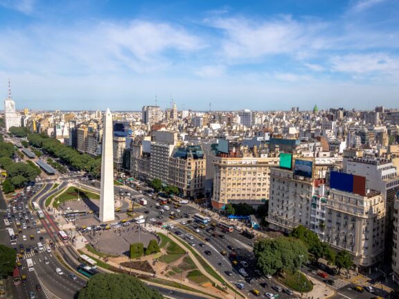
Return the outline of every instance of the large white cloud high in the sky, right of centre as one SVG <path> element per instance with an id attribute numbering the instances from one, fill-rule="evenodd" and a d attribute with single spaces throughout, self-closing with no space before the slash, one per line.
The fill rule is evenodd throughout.
<path id="1" fill-rule="evenodd" d="M 323 40 L 317 33 L 325 24 L 294 21 L 291 17 L 256 22 L 243 18 L 206 20 L 225 34 L 222 55 L 230 59 L 256 59 L 265 55 L 295 55 L 296 52 L 322 48 Z"/>

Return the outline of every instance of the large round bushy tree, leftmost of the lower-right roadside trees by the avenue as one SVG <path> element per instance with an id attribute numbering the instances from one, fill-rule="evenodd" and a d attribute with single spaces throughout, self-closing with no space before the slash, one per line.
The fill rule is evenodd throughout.
<path id="1" fill-rule="evenodd" d="M 264 239 L 254 246 L 256 265 L 263 274 L 283 270 L 296 271 L 308 261 L 308 248 L 299 239 L 279 237 Z"/>

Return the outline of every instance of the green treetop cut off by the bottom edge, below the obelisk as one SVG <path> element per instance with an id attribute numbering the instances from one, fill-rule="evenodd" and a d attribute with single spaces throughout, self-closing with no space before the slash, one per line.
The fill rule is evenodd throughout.
<path id="1" fill-rule="evenodd" d="M 159 291 L 150 289 L 139 278 L 126 274 L 99 273 L 91 276 L 78 299 L 161 299 Z"/>

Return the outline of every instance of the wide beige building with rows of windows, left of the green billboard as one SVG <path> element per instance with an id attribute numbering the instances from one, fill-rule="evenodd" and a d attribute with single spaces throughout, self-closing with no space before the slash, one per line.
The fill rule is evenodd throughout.
<path id="1" fill-rule="evenodd" d="M 279 158 L 268 157 L 247 147 L 213 157 L 212 206 L 224 210 L 227 203 L 259 206 L 269 199 L 270 167 Z"/>

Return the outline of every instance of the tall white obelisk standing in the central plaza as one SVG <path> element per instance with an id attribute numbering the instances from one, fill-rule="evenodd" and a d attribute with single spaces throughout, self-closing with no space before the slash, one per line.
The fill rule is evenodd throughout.
<path id="1" fill-rule="evenodd" d="M 114 203 L 114 153 L 112 144 L 112 114 L 109 109 L 103 116 L 103 152 L 101 157 L 100 221 L 115 219 Z"/>

